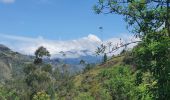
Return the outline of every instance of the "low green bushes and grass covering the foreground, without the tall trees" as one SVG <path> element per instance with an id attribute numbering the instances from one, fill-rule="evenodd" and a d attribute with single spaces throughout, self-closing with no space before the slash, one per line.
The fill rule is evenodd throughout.
<path id="1" fill-rule="evenodd" d="M 88 64 L 77 75 L 32 63 L 24 68 L 24 78 L 1 86 L 0 96 L 4 100 L 151 99 L 153 94 L 148 89 L 155 84 L 151 74 L 143 74 L 142 84 L 138 85 L 139 71 L 126 65 L 127 57 L 115 57 L 96 67 Z"/>

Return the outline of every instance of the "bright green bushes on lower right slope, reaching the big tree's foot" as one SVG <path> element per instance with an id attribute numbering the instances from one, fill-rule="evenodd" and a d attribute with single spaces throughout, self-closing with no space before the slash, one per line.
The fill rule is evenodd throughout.
<path id="1" fill-rule="evenodd" d="M 147 83 L 136 85 L 135 76 L 130 66 L 117 66 L 103 70 L 99 79 L 114 100 L 150 100 Z"/>

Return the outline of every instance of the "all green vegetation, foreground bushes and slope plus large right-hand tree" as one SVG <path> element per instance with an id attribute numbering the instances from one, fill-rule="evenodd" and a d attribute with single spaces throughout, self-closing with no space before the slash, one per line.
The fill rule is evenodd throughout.
<path id="1" fill-rule="evenodd" d="M 168 5 L 165 5 L 168 4 Z M 168 100 L 170 98 L 169 1 L 99 0 L 96 13 L 123 15 L 128 27 L 140 38 L 133 50 L 124 50 L 103 63 L 87 64 L 84 71 L 70 74 L 43 62 L 50 57 L 44 47 L 35 52 L 34 61 L 24 63 L 20 76 L 0 85 L 2 100 Z M 105 12 L 106 11 L 106 12 Z M 127 46 L 130 43 L 122 44 Z M 114 47 L 116 50 L 119 47 Z M 109 51 L 111 52 L 111 51 Z M 81 60 L 81 64 L 85 61 Z"/>

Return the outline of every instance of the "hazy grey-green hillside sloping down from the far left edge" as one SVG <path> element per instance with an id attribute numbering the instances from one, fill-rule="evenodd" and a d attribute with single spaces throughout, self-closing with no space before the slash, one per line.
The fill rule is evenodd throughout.
<path id="1" fill-rule="evenodd" d="M 0 80 L 18 76 L 22 73 L 24 65 L 31 61 L 31 57 L 13 52 L 8 47 L 0 44 Z"/>

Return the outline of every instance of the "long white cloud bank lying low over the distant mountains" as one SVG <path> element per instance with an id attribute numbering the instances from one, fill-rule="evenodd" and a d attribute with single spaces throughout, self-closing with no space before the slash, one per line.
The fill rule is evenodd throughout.
<path id="1" fill-rule="evenodd" d="M 122 37 L 123 41 L 130 41 L 129 38 L 131 38 L 129 35 Z M 104 41 L 104 43 L 107 43 L 108 41 L 116 44 L 120 41 L 120 38 L 111 38 L 107 41 Z M 70 41 L 47 40 L 41 36 L 37 38 L 29 38 L 0 34 L 0 44 L 1 43 L 7 45 L 12 50 L 27 55 L 33 55 L 38 47 L 44 46 L 49 50 L 52 56 L 58 55 L 61 51 L 76 52 L 76 54 L 70 56 L 78 56 L 83 55 L 81 52 L 82 50 L 88 50 L 88 53 L 93 54 L 97 46 L 99 46 L 102 42 L 97 36 L 93 34 L 89 34 L 87 37 Z"/>

